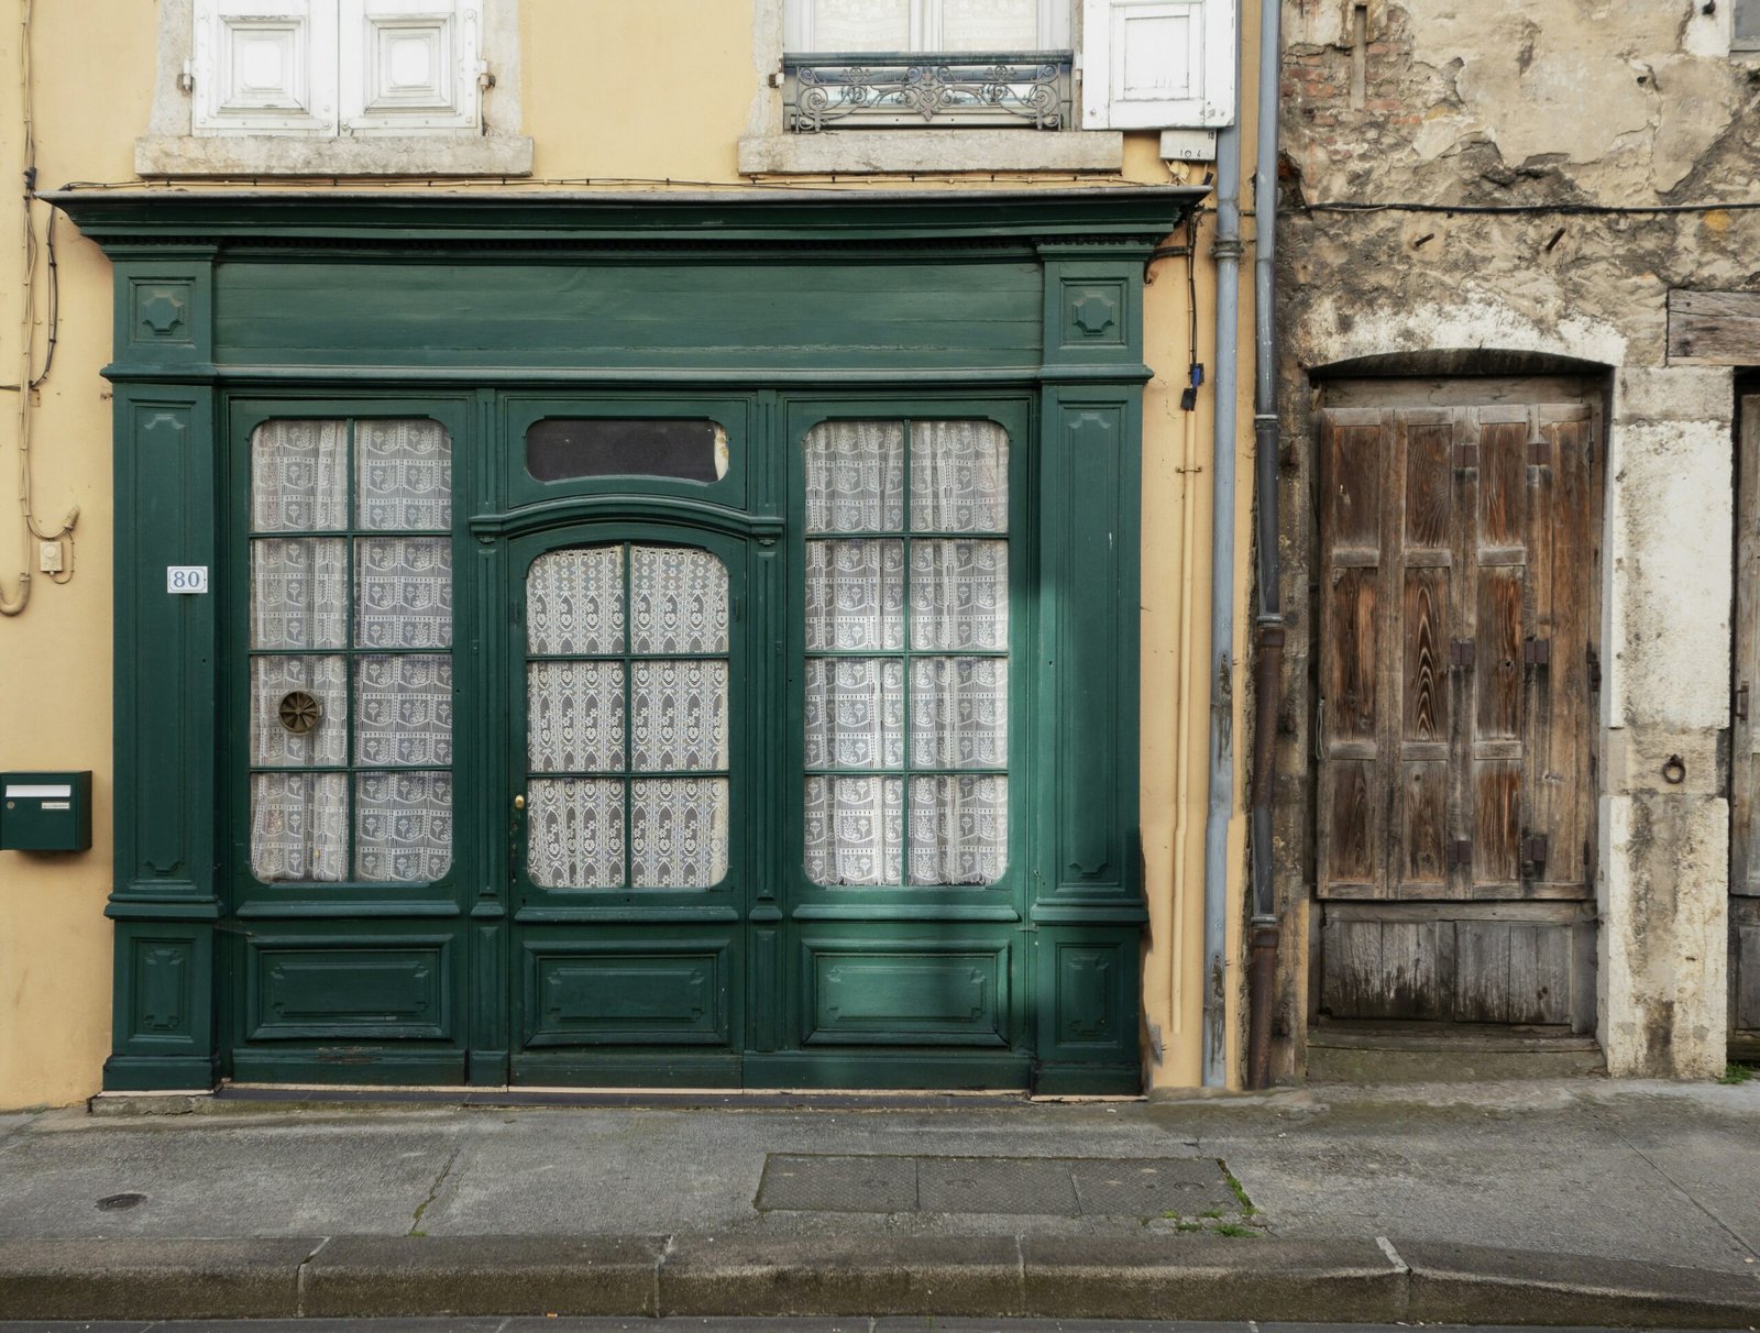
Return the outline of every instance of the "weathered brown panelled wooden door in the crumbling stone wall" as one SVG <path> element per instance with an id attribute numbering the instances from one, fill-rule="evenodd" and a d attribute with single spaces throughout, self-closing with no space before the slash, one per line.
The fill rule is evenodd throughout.
<path id="1" fill-rule="evenodd" d="M 1320 413 L 1332 1018 L 1593 1022 L 1595 412 L 1503 385 Z"/>

